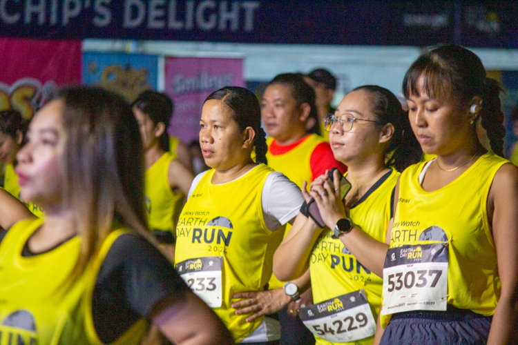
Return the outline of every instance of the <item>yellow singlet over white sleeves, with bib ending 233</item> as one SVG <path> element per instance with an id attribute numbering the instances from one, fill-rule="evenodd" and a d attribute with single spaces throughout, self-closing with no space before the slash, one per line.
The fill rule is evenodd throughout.
<path id="1" fill-rule="evenodd" d="M 186 202 L 176 227 L 175 267 L 240 342 L 264 317 L 245 322 L 231 308 L 235 293 L 262 291 L 271 276 L 284 227 L 268 230 L 262 187 L 273 170 L 259 164 L 238 179 L 213 184 L 207 171 Z"/>

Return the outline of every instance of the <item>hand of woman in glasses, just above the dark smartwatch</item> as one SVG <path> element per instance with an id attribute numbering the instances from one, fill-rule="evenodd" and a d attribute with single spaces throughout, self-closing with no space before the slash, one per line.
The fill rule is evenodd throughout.
<path id="1" fill-rule="evenodd" d="M 336 170 L 333 175 L 334 184 L 325 180 L 322 185 L 312 184 L 309 195 L 313 197 L 318 205 L 318 210 L 325 225 L 334 228 L 336 221 L 345 217 L 345 206 L 340 196 L 340 172 Z"/>

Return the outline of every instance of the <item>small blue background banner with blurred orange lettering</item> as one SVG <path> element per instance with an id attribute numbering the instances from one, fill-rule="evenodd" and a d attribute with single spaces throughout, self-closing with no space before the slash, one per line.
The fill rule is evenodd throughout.
<path id="1" fill-rule="evenodd" d="M 144 90 L 156 90 L 157 77 L 157 55 L 86 52 L 83 56 L 86 85 L 102 86 L 130 102 Z"/>

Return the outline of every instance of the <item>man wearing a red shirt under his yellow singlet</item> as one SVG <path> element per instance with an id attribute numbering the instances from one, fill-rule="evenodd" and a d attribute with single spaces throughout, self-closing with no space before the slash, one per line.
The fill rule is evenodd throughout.
<path id="1" fill-rule="evenodd" d="M 327 169 L 337 167 L 341 172 L 347 169 L 334 159 L 329 143 L 316 134 L 307 134 L 306 124 L 311 113 L 316 114 L 315 92 L 301 75 L 281 74 L 268 83 L 261 100 L 262 121 L 270 135 L 267 139 L 268 165 L 282 172 L 299 188 L 304 181 L 311 183 Z M 285 285 L 275 276 L 269 284 L 274 288 Z M 279 313 L 282 344 L 314 342 L 313 335 L 296 317 L 301 304 L 311 303 L 311 290 L 301 297 L 299 304 L 290 304 Z"/>

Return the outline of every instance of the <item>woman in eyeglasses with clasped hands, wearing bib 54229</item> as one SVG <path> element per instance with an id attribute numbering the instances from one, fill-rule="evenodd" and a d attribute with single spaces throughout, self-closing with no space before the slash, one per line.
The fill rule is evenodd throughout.
<path id="1" fill-rule="evenodd" d="M 391 196 L 397 170 L 419 161 L 421 150 L 398 99 L 385 88 L 361 86 L 349 92 L 334 115 L 325 118 L 334 157 L 347 165 L 351 184 L 340 208 L 338 229 L 319 228 L 299 213 L 293 228 L 274 257 L 274 273 L 294 279 L 309 266 L 314 305 L 300 310 L 317 344 L 372 344 L 381 304 L 382 279 L 352 255 L 337 231 L 354 224 L 363 236 L 384 245 L 392 218 Z M 340 199 L 340 175 L 334 190 L 323 188 L 327 175 L 318 177 L 306 192 L 324 211 Z M 345 213 L 347 208 L 348 213 Z M 327 210 L 329 212 L 329 210 Z"/>

